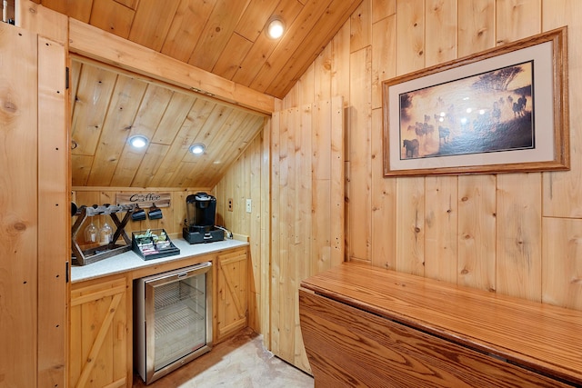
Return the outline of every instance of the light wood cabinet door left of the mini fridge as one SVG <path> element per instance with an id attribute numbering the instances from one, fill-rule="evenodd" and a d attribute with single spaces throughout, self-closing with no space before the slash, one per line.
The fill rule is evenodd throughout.
<path id="1" fill-rule="evenodd" d="M 128 294 L 125 277 L 71 286 L 69 386 L 131 386 Z"/>

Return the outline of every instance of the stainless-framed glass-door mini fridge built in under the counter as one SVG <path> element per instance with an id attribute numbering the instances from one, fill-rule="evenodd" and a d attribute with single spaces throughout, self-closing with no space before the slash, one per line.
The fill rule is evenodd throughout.
<path id="1" fill-rule="evenodd" d="M 146 384 L 212 347 L 212 263 L 135 280 L 134 365 Z"/>

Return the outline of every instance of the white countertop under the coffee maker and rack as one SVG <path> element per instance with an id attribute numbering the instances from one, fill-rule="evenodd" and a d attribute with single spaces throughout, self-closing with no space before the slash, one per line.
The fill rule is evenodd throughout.
<path id="1" fill-rule="evenodd" d="M 248 243 L 239 240 L 223 240 L 206 244 L 189 244 L 182 238 L 173 238 L 172 243 L 180 249 L 180 254 L 162 257 L 159 259 L 144 260 L 133 251 L 127 251 L 123 254 L 116 254 L 93 264 L 73 265 L 71 267 L 71 283 L 81 282 L 84 280 L 94 279 L 96 277 L 110 274 L 121 274 L 127 271 L 133 271 L 137 268 L 143 268 L 150 265 L 169 263 L 181 260 L 186 257 L 196 256 L 198 254 L 210 254 L 222 251 L 224 249 L 246 246 Z"/>

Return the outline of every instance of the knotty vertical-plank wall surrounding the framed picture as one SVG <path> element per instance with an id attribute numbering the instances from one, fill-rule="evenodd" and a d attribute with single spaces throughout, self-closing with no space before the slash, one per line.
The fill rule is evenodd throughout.
<path id="1" fill-rule="evenodd" d="M 381 144 L 383 80 L 563 25 L 569 103 L 582 103 L 580 20 L 577 0 L 364 0 L 280 102 L 285 111 L 344 97 L 347 260 L 582 310 L 577 109 L 569 172 L 384 178 Z M 298 134 L 295 119 L 282 115 L 287 135 Z M 270 309 L 281 307 L 273 298 Z"/>

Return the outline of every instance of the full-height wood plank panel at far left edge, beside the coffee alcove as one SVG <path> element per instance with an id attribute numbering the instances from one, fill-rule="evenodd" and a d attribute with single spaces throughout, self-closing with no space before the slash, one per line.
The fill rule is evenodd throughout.
<path id="1" fill-rule="evenodd" d="M 28 2 L 17 7 L 25 29 L 0 25 L 0 375 L 7 386 L 65 386 L 66 17 Z"/>

